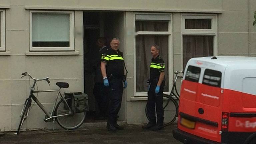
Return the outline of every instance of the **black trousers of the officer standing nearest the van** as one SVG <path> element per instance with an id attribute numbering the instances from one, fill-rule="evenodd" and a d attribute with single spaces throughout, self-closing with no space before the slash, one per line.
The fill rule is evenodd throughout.
<path id="1" fill-rule="evenodd" d="M 151 83 L 148 91 L 148 102 L 147 102 L 147 113 L 149 121 L 152 123 L 163 123 L 164 119 L 164 109 L 163 109 L 163 86 L 160 87 L 160 92 L 155 93 L 156 83 Z M 156 113 L 155 113 L 156 111 Z"/>

